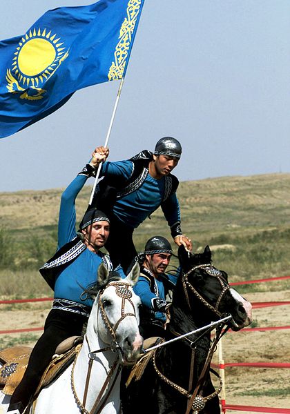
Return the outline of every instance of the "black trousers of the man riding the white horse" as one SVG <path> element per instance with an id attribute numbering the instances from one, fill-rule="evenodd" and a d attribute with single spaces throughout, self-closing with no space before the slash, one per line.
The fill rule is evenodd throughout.
<path id="1" fill-rule="evenodd" d="M 22 402 L 24 408 L 27 406 L 57 346 L 68 337 L 81 335 L 83 325 L 87 321 L 88 317 L 78 313 L 57 309 L 52 309 L 48 313 L 44 332 L 32 349 L 28 367 L 11 397 L 10 405 Z"/>

